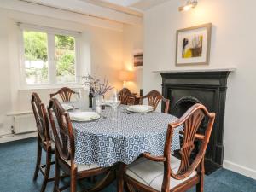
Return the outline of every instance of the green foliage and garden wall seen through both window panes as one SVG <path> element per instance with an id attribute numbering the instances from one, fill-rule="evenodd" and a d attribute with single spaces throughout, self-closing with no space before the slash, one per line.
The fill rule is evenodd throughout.
<path id="1" fill-rule="evenodd" d="M 26 79 L 34 83 L 48 82 L 48 49 L 47 33 L 23 33 L 25 60 L 44 61 L 43 67 L 27 67 Z M 56 78 L 59 83 L 75 81 L 75 39 L 70 36 L 55 35 Z"/>

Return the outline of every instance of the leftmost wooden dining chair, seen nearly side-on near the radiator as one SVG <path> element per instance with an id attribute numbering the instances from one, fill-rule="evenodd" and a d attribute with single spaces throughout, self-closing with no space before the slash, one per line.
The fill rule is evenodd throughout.
<path id="1" fill-rule="evenodd" d="M 49 181 L 54 181 L 54 178 L 49 178 L 49 171 L 50 166 L 54 164 L 54 162 L 51 162 L 51 156 L 55 154 L 55 143 L 50 139 L 48 116 L 44 103 L 41 102 L 37 93 L 32 93 L 31 104 L 38 128 L 38 155 L 33 180 L 35 181 L 38 178 L 39 171 L 42 172 L 44 181 L 40 191 L 44 192 L 47 183 Z M 41 165 L 42 149 L 46 152 L 45 165 Z"/>

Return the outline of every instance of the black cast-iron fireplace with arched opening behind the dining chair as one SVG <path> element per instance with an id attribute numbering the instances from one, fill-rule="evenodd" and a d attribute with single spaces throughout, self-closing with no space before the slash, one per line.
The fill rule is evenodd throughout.
<path id="1" fill-rule="evenodd" d="M 171 101 L 170 113 L 181 117 L 195 103 L 201 103 L 209 112 L 216 113 L 205 159 L 207 174 L 223 165 L 224 107 L 229 73 L 230 70 L 160 72 L 162 94 Z M 200 132 L 204 132 L 204 125 L 202 122 Z"/>

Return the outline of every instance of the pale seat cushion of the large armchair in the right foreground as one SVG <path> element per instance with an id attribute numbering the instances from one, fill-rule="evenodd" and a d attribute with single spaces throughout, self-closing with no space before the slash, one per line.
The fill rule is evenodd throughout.
<path id="1" fill-rule="evenodd" d="M 177 172 L 180 166 L 180 160 L 172 156 L 171 158 L 171 168 L 172 172 Z M 153 160 L 148 160 L 144 157 L 139 158 L 131 165 L 127 166 L 126 175 L 133 178 L 139 183 L 143 183 L 153 189 L 161 191 L 163 178 L 164 178 L 164 163 L 155 162 Z M 173 189 L 178 184 L 183 183 L 190 177 L 194 177 L 196 172 L 194 171 L 189 177 L 183 180 L 177 180 L 171 177 L 170 189 Z"/>

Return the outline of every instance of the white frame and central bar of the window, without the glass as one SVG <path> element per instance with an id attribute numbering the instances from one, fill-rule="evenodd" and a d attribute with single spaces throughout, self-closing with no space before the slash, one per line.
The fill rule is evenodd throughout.
<path id="1" fill-rule="evenodd" d="M 20 90 L 23 89 L 45 89 L 59 88 L 61 86 L 76 87 L 79 85 L 80 76 L 80 44 L 79 39 L 81 32 L 73 32 L 62 29 L 55 29 L 46 26 L 35 26 L 30 24 L 18 23 L 20 26 Z M 45 32 L 47 33 L 47 52 L 48 52 L 48 83 L 45 84 L 27 84 L 25 68 L 25 48 L 24 48 L 24 31 Z M 57 83 L 56 81 L 56 61 L 55 61 L 55 35 L 69 35 L 75 38 L 75 82 Z"/>

